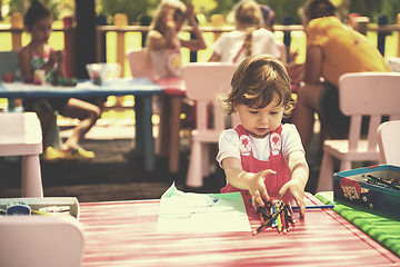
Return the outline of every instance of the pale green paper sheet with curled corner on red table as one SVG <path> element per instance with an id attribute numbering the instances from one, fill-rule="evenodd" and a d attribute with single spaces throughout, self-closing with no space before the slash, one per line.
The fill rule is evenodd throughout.
<path id="1" fill-rule="evenodd" d="M 250 231 L 240 192 L 183 192 L 174 184 L 162 195 L 158 233 Z"/>

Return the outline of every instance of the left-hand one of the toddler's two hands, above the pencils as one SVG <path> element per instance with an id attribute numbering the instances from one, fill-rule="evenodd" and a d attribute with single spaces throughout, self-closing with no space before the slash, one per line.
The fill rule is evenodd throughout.
<path id="1" fill-rule="evenodd" d="M 257 205 L 263 207 L 264 202 L 262 199 L 270 200 L 270 197 L 268 196 L 267 188 L 264 185 L 264 180 L 267 176 L 274 175 L 277 171 L 267 169 L 261 170 L 257 174 L 251 174 L 252 177 L 249 180 L 249 192 L 251 195 L 251 200 L 253 204 L 254 209 L 257 210 Z"/>

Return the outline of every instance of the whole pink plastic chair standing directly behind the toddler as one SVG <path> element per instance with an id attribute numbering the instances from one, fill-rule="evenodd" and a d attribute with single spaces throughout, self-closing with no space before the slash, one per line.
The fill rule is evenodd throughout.
<path id="1" fill-rule="evenodd" d="M 202 178 L 209 176 L 210 144 L 218 144 L 226 129 L 226 116 L 214 101 L 217 93 L 230 89 L 230 81 L 237 65 L 189 63 L 183 67 L 187 96 L 196 101 L 196 129 L 191 131 L 191 154 L 187 186 L 201 187 Z M 208 128 L 208 105 L 213 103 L 213 128 Z M 238 121 L 238 120 L 234 120 Z M 233 122 L 234 125 L 237 122 Z"/>

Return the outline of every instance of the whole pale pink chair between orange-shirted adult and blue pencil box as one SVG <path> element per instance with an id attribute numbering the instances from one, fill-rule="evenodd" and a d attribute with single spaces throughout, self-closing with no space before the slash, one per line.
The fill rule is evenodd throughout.
<path id="1" fill-rule="evenodd" d="M 340 110 L 351 117 L 349 139 L 326 140 L 317 191 L 333 189 L 333 158 L 340 160 L 340 171 L 351 169 L 352 161 L 380 164 L 377 130 L 382 116 L 400 119 L 400 73 L 346 73 L 339 80 Z M 367 139 L 360 138 L 362 116 L 370 116 Z"/>

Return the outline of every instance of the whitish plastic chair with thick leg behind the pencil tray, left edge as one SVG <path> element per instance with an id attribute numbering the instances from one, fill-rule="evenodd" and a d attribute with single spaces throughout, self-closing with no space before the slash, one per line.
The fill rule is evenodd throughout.
<path id="1" fill-rule="evenodd" d="M 34 112 L 0 113 L 0 156 L 21 156 L 21 196 L 43 197 L 40 121 Z M 1 178 L 1 174 L 0 174 Z"/>

